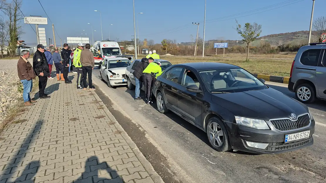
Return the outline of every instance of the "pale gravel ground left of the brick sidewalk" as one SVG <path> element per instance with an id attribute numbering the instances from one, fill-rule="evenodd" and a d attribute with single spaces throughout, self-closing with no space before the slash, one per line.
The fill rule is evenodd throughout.
<path id="1" fill-rule="evenodd" d="M 17 74 L 18 59 L 0 60 L 0 122 L 7 116 L 10 106 L 22 98 L 18 92 L 20 80 Z"/>

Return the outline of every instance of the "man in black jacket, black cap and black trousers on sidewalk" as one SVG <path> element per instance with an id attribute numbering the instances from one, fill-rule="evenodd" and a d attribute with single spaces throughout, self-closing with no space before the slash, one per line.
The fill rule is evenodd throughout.
<path id="1" fill-rule="evenodd" d="M 44 54 L 44 46 L 37 45 L 37 51 L 34 53 L 33 57 L 33 68 L 38 76 L 38 89 L 40 98 L 50 98 L 47 94 L 44 93 L 46 84 L 48 82 L 48 77 L 51 76 L 49 70 L 49 64 Z"/>

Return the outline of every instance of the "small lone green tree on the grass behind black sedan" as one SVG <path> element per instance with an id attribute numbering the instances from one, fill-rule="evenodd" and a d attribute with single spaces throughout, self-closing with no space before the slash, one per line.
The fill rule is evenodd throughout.
<path id="1" fill-rule="evenodd" d="M 255 41 L 257 37 L 259 37 L 261 33 L 261 25 L 258 25 L 256 22 L 253 24 L 245 23 L 244 27 L 242 27 L 237 20 L 235 20 L 237 23 L 236 31 L 238 34 L 243 37 L 243 41 L 247 43 L 248 49 L 247 49 L 247 59 L 249 60 L 249 49 L 250 49 L 250 43 Z"/>

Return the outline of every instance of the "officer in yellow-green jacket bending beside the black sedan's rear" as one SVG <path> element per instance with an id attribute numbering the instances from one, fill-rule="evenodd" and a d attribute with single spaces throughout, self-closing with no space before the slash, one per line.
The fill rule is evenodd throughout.
<path id="1" fill-rule="evenodd" d="M 152 81 L 154 79 L 154 74 L 158 73 L 159 75 L 162 74 L 162 68 L 155 62 L 153 62 L 154 59 L 150 57 L 148 59 L 148 66 L 146 69 L 143 71 L 143 84 L 144 84 L 144 89 L 145 89 L 145 99 L 146 103 L 150 104 L 151 102 L 151 87 L 152 87 Z"/>

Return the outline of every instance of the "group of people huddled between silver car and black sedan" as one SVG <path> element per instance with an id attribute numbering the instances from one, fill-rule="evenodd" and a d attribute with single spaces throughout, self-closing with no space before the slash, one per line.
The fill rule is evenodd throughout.
<path id="1" fill-rule="evenodd" d="M 155 50 L 153 50 L 154 52 Z M 162 74 L 162 68 L 160 62 L 154 62 L 153 57 L 142 58 L 140 62 L 137 63 L 134 72 L 132 73 L 135 78 L 136 88 L 135 88 L 135 100 L 141 100 L 140 90 L 142 84 L 144 85 L 145 96 L 144 99 L 146 104 L 151 103 L 151 90 L 153 86 L 153 81 L 157 76 Z"/>

